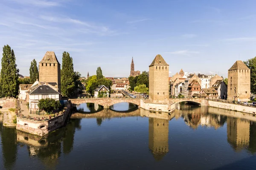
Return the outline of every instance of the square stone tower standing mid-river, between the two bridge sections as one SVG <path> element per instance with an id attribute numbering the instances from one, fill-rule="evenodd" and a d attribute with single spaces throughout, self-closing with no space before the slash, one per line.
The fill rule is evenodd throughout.
<path id="1" fill-rule="evenodd" d="M 169 65 L 160 54 L 149 65 L 149 99 L 169 103 Z"/>

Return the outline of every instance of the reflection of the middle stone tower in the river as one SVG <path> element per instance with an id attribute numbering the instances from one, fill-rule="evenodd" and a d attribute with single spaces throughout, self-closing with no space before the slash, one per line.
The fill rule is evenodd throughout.
<path id="1" fill-rule="evenodd" d="M 169 120 L 148 118 L 148 147 L 157 161 L 169 152 L 168 133 Z"/>

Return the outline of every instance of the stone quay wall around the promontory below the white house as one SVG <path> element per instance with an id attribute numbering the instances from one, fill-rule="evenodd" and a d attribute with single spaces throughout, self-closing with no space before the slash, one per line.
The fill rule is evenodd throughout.
<path id="1" fill-rule="evenodd" d="M 66 119 L 68 118 L 68 116 L 70 116 L 70 113 L 72 112 L 72 108 L 72 103 L 68 102 L 67 106 L 64 108 L 64 111 L 60 116 L 56 116 L 55 118 L 44 121 L 17 117 L 16 129 L 38 136 L 47 135 L 48 133 L 64 125 Z"/>

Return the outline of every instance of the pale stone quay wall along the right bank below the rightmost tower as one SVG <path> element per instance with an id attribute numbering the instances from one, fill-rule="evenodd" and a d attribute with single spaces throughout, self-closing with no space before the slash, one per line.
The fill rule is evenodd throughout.
<path id="1" fill-rule="evenodd" d="M 239 111 L 244 113 L 256 113 L 256 107 L 250 107 L 245 105 L 236 105 L 233 103 L 224 103 L 224 102 L 217 102 L 217 101 L 208 101 L 208 106 L 213 108 L 221 108 L 221 109 L 227 109 L 230 111 Z"/>

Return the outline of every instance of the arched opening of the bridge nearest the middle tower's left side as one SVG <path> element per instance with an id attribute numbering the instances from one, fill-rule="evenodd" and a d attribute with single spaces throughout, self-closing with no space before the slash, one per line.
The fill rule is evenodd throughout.
<path id="1" fill-rule="evenodd" d="M 138 105 L 134 103 L 129 103 L 129 102 L 121 102 L 121 103 L 116 103 L 114 105 L 111 105 L 109 109 L 111 111 L 116 111 L 116 112 L 131 112 L 131 111 L 136 111 L 138 109 Z"/>

